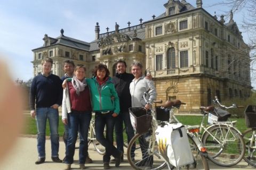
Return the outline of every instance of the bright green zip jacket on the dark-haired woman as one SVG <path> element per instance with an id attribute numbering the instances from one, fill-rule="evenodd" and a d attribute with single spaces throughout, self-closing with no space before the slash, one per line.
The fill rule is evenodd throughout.
<path id="1" fill-rule="evenodd" d="M 91 92 L 92 108 L 94 112 L 114 111 L 114 113 L 119 114 L 119 98 L 110 77 L 101 86 L 99 86 L 95 77 L 86 79 L 86 82 Z M 114 101 L 111 100 L 111 97 L 114 97 Z"/>

